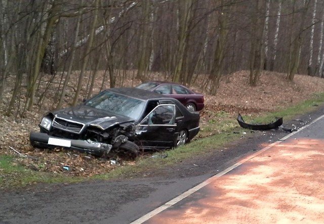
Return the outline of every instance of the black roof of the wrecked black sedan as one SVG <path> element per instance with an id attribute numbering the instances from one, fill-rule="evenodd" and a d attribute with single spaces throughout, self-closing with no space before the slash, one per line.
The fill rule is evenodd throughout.
<path id="1" fill-rule="evenodd" d="M 166 98 L 164 95 L 151 92 L 148 90 L 138 89 L 134 87 L 123 87 L 123 88 L 111 88 L 107 91 L 112 91 L 115 93 L 123 94 L 126 96 L 131 96 L 141 100 L 155 99 L 155 98 Z"/>

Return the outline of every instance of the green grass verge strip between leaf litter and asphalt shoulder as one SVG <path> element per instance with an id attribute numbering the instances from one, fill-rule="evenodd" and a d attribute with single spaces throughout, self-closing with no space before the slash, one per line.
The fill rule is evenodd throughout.
<path id="1" fill-rule="evenodd" d="M 285 120 L 291 120 L 298 115 L 315 110 L 315 105 L 324 104 L 324 93 L 314 94 L 314 96 L 302 103 L 286 108 L 278 109 L 271 113 L 265 113 L 261 116 L 251 116 L 246 122 L 268 123 L 275 117 L 284 117 Z M 110 179 L 116 177 L 135 176 L 146 170 L 159 169 L 164 166 L 172 166 L 180 161 L 193 158 L 198 155 L 208 154 L 211 150 L 223 148 L 227 142 L 240 137 L 239 134 L 233 134 L 238 127 L 233 115 L 225 112 L 215 114 L 199 133 L 200 138 L 192 141 L 190 144 L 175 148 L 174 150 L 156 153 L 154 155 L 167 154 L 167 158 L 139 157 L 135 165 L 126 165 L 115 168 L 109 173 L 95 175 L 91 179 Z M 79 182 L 89 180 L 88 177 L 71 177 L 65 174 L 51 174 L 46 172 L 33 171 L 19 165 L 13 156 L 0 156 L 0 188 L 10 189 L 26 186 L 33 183 L 59 183 L 59 182 Z"/>

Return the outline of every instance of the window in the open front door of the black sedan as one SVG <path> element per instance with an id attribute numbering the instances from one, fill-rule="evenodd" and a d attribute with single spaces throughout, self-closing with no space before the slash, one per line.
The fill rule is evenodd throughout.
<path id="1" fill-rule="evenodd" d="M 174 105 L 159 105 L 145 119 L 142 125 L 172 125 L 174 124 Z"/>

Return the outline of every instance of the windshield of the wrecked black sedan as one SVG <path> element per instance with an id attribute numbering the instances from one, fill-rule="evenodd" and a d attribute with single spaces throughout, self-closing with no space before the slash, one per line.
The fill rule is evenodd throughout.
<path id="1" fill-rule="evenodd" d="M 136 120 L 141 115 L 145 101 L 105 91 L 90 99 L 85 105 Z"/>

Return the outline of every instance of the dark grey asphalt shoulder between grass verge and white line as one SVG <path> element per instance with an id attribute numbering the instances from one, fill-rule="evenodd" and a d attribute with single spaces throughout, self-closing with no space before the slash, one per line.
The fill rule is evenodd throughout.
<path id="1" fill-rule="evenodd" d="M 284 119 L 284 126 L 302 127 L 323 111 L 318 107 L 298 120 Z M 287 134 L 281 129 L 255 132 L 212 155 L 128 180 L 2 191 L 0 223 L 130 223 Z"/>

